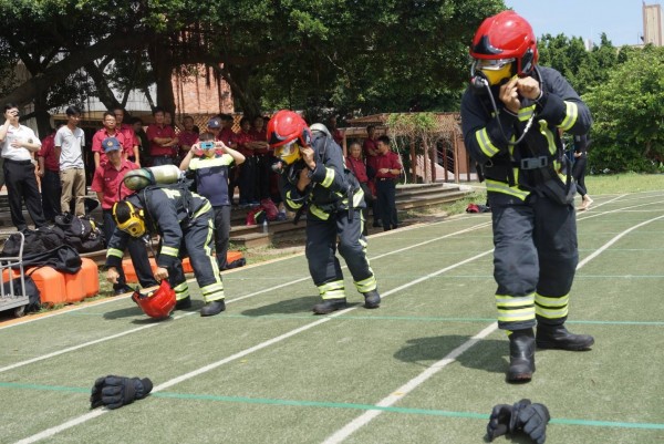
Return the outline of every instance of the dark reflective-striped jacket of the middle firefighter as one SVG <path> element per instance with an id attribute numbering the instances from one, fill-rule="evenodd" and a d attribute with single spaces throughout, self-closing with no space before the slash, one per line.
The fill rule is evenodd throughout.
<path id="1" fill-rule="evenodd" d="M 341 147 L 323 133 L 314 132 L 311 143 L 315 169 L 309 172 L 311 184 L 303 192 L 298 189 L 298 178 L 303 161 L 298 161 L 282 174 L 283 202 L 292 211 L 308 209 L 308 217 L 328 220 L 340 210 L 364 208 L 364 192 L 353 173 L 345 167 Z"/>

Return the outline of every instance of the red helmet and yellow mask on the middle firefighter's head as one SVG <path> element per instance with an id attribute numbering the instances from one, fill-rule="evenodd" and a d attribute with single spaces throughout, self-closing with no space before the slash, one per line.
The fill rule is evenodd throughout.
<path id="1" fill-rule="evenodd" d="M 300 147 L 311 144 L 311 131 L 300 114 L 281 110 L 268 123 L 268 144 L 287 164 L 300 158 Z"/>

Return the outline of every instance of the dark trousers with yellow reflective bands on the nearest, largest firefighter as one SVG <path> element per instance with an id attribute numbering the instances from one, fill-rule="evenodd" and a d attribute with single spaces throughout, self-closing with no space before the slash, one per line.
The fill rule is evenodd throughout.
<path id="1" fill-rule="evenodd" d="M 531 194 L 526 202 L 489 193 L 498 327 L 561 326 L 579 252 L 574 207 Z"/>

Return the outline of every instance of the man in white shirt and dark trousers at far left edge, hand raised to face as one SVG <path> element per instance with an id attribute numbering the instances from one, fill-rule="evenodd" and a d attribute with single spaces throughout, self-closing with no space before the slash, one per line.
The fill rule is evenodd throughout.
<path id="1" fill-rule="evenodd" d="M 23 199 L 35 228 L 46 224 L 37 185 L 32 153 L 41 147 L 41 141 L 28 126 L 19 123 L 19 107 L 7 103 L 2 107 L 4 124 L 0 126 L 2 172 L 9 197 L 11 221 L 19 231 L 28 229 L 23 217 Z"/>

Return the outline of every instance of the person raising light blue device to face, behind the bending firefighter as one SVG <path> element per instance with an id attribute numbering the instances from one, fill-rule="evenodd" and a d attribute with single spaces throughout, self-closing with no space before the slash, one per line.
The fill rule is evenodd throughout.
<path id="1" fill-rule="evenodd" d="M 228 198 L 228 167 L 240 165 L 245 156 L 227 146 L 224 142 L 215 141 L 212 133 L 200 134 L 199 141 L 180 163 L 180 169 L 193 172 L 196 190 L 212 205 L 215 223 L 215 249 L 219 270 L 226 269 L 226 255 L 230 239 L 230 200 Z"/>

